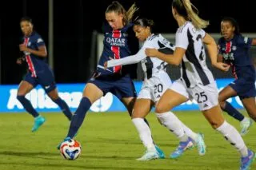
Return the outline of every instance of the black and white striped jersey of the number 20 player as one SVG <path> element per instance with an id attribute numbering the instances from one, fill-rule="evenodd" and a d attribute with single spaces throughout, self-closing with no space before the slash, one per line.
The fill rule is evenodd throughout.
<path id="1" fill-rule="evenodd" d="M 160 70 L 166 71 L 167 63 L 157 57 L 147 57 L 145 53 L 146 48 L 158 49 L 162 53 L 174 53 L 174 45 L 166 40 L 166 38 L 163 38 L 161 34 L 151 34 L 150 37 L 146 38 L 138 53 L 118 60 L 107 61 L 107 65 L 108 67 L 113 67 L 115 65 L 130 65 L 141 61 L 144 79 L 156 76 L 156 73 Z"/>

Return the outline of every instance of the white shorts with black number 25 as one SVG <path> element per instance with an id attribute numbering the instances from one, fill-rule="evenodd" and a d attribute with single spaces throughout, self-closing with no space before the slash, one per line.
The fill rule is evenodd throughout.
<path id="1" fill-rule="evenodd" d="M 192 88 L 186 88 L 186 85 L 181 79 L 174 81 L 169 89 L 182 94 L 182 96 L 197 101 L 200 110 L 211 109 L 218 105 L 218 88 L 216 82 L 211 82 L 209 85 L 196 85 Z"/>

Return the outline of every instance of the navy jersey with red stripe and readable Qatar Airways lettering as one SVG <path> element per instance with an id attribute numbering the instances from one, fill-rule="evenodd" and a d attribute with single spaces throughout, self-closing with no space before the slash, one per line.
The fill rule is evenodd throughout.
<path id="1" fill-rule="evenodd" d="M 110 57 L 114 59 L 130 56 L 138 51 L 138 40 L 134 42 L 135 37 L 132 31 L 133 24 L 130 23 L 124 26 L 120 30 L 113 30 L 109 24 L 103 26 L 104 40 L 103 51 L 98 61 L 97 70 L 104 75 L 126 75 L 130 71 L 126 66 L 117 65 L 104 69 L 104 63 L 110 60 Z"/>

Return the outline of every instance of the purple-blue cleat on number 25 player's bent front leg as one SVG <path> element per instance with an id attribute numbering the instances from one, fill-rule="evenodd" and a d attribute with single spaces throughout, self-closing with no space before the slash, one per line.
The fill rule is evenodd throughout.
<path id="1" fill-rule="evenodd" d="M 186 149 L 193 148 L 193 146 L 193 140 L 190 137 L 185 142 L 179 142 L 178 148 L 176 148 L 176 150 L 170 154 L 170 158 L 176 159 L 179 156 L 182 156 L 183 152 L 185 152 Z"/>

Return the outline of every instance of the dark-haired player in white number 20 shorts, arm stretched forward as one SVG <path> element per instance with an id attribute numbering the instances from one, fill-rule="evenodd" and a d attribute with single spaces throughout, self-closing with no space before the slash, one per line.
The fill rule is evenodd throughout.
<path id="1" fill-rule="evenodd" d="M 134 112 L 132 115 L 132 121 L 135 127 L 138 129 L 139 136 L 146 147 L 147 154 L 142 156 L 138 160 L 154 160 L 158 159 L 158 152 L 154 147 L 153 140 L 151 138 L 150 128 L 146 125 L 143 120 L 154 105 L 157 104 L 158 100 L 162 96 L 162 93 L 168 89 L 171 85 L 170 77 L 166 73 L 165 61 L 159 60 L 158 58 L 146 57 L 145 49 L 146 48 L 155 48 L 164 53 L 173 53 L 174 45 L 171 45 L 170 42 L 163 38 L 161 34 L 153 34 L 152 27 L 154 22 L 149 19 L 138 19 L 134 22 L 134 32 L 139 41 L 144 42 L 142 48 L 135 55 L 124 57 L 121 59 L 114 59 L 106 61 L 105 67 L 113 67 L 116 65 L 130 65 L 134 63 L 141 62 L 144 81 L 142 89 L 138 94 L 137 100 L 134 104 Z M 204 155 L 206 152 L 206 146 L 200 134 L 196 134 L 191 131 L 190 128 L 187 128 L 186 125 L 183 125 L 178 117 L 174 113 L 168 113 L 170 121 L 169 128 L 171 132 L 181 140 L 181 143 L 186 143 L 187 148 L 190 148 L 193 145 L 193 142 L 198 145 L 198 152 L 200 155 Z M 169 124 L 168 124 L 169 125 Z M 177 131 L 178 128 L 181 131 Z M 182 136 L 186 132 L 189 138 L 183 141 Z M 153 145 L 152 145 L 153 144 Z M 182 155 L 184 150 L 176 150 L 173 152 L 170 157 L 177 158 Z"/>

